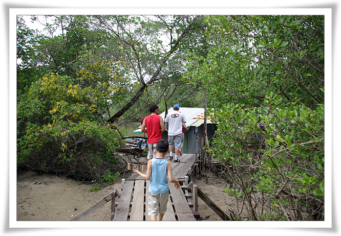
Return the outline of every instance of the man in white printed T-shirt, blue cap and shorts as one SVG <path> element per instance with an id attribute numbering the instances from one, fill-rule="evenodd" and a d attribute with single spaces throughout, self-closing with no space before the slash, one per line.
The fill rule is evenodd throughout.
<path id="1" fill-rule="evenodd" d="M 173 149 L 175 147 L 175 157 L 174 162 L 179 162 L 178 155 L 179 149 L 181 149 L 181 134 L 182 134 L 182 126 L 185 127 L 186 131 L 188 130 L 186 123 L 185 115 L 179 112 L 179 105 L 175 104 L 173 107 L 173 112 L 170 112 L 166 119 L 165 123 L 168 123 L 168 143 L 169 143 L 169 159 L 173 160 Z"/>

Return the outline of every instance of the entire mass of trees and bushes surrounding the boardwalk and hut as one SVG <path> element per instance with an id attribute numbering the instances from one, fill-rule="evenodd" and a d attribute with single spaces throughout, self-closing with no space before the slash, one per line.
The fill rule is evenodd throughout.
<path id="1" fill-rule="evenodd" d="M 18 168 L 105 176 L 118 120 L 205 107 L 249 220 L 324 220 L 323 15 L 39 17 L 17 17 Z"/>

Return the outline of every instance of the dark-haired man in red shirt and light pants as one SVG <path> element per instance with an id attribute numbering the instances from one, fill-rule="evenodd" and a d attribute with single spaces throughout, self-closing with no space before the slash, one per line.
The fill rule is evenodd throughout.
<path id="1" fill-rule="evenodd" d="M 150 111 L 151 114 L 144 118 L 141 126 L 141 131 L 146 133 L 148 138 L 148 160 L 156 157 L 154 149 L 158 141 L 161 140 L 161 133 L 165 131 L 163 119 L 159 115 L 159 107 L 157 105 L 152 105 Z"/>

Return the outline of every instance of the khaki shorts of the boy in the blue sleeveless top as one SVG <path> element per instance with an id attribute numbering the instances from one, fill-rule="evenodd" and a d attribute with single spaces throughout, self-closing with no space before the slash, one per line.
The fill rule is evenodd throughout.
<path id="1" fill-rule="evenodd" d="M 152 194 L 148 192 L 148 215 L 157 216 L 167 211 L 169 191 L 163 194 Z"/>

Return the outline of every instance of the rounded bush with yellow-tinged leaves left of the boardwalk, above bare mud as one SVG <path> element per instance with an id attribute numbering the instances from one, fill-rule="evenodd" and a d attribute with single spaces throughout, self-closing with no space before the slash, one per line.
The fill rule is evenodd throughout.
<path id="1" fill-rule="evenodd" d="M 49 75 L 19 97 L 17 106 L 17 164 L 92 179 L 116 164 L 121 145 L 114 125 L 100 117 L 115 96 L 115 87 L 97 83 L 80 87 L 88 77 L 74 80 Z"/>

